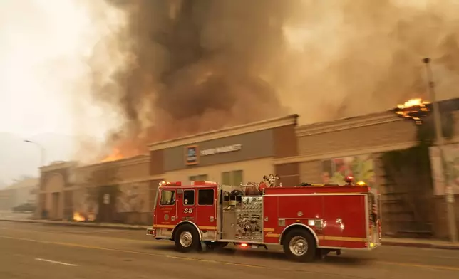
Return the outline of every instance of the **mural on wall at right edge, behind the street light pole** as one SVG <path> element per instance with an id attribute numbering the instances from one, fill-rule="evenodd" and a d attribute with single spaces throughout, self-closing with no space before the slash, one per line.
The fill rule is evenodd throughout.
<path id="1" fill-rule="evenodd" d="M 445 154 L 445 167 L 448 168 L 448 184 L 453 187 L 453 193 L 459 194 L 459 144 L 448 144 L 443 147 Z M 440 159 L 440 149 L 429 147 L 430 166 L 432 168 L 433 189 L 435 195 L 445 194 L 445 179 L 443 177 L 443 164 Z"/>

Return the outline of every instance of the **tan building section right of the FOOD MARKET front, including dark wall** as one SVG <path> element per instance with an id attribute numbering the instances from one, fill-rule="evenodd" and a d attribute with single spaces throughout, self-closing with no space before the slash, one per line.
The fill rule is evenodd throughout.
<path id="1" fill-rule="evenodd" d="M 446 144 L 459 150 L 459 144 L 455 144 L 459 142 L 459 111 L 453 111 L 452 115 L 455 135 Z M 274 164 L 298 164 L 300 180 L 309 183 L 344 184 L 344 177 L 352 175 L 381 193 L 386 235 L 445 238 L 448 235 L 445 199 L 435 196 L 437 188 L 443 189 L 438 186 L 438 179 L 434 178 L 433 184 L 421 185 L 413 181 L 422 180 L 423 175 L 428 180 L 430 174 L 413 172 L 403 178 L 390 177 L 383 162 L 383 155 L 388 152 L 418 146 L 417 129 L 415 122 L 398 117 L 393 111 L 304 125 L 296 128 L 299 154 L 276 159 Z M 450 157 L 454 153 L 459 154 L 448 152 Z M 434 171 L 440 165 L 435 159 L 430 162 Z M 458 203 L 456 212 L 459 217 Z"/>

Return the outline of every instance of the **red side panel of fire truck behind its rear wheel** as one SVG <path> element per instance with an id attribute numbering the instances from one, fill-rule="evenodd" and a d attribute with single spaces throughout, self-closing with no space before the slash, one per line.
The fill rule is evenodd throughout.
<path id="1" fill-rule="evenodd" d="M 365 242 L 365 196 L 324 196 L 324 221 L 322 244 L 346 247 Z"/>

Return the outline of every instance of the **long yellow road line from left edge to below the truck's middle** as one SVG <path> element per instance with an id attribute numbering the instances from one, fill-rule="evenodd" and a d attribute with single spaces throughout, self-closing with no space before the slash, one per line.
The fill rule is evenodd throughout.
<path id="1" fill-rule="evenodd" d="M 75 243 L 53 242 L 53 241 L 37 241 L 35 239 L 19 238 L 19 237 L 12 237 L 12 236 L 0 236 L 0 238 L 15 239 L 15 240 L 19 240 L 19 241 L 31 241 L 31 242 L 36 242 L 36 243 L 53 244 L 53 245 L 58 245 L 58 246 L 87 248 L 87 249 L 94 249 L 94 250 L 101 250 L 101 251 L 131 253 L 131 254 L 146 255 L 146 256 L 160 256 L 160 257 L 164 257 L 164 258 L 175 258 L 177 260 L 192 260 L 192 261 L 202 262 L 202 263 L 218 263 L 218 264 L 222 264 L 222 265 L 234 265 L 234 266 L 242 266 L 242 267 L 246 267 L 246 268 L 267 268 L 266 266 L 262 266 L 262 265 L 249 265 L 249 264 L 244 264 L 244 263 L 231 263 L 231 262 L 224 262 L 224 261 L 217 261 L 217 260 L 205 260 L 205 259 L 201 259 L 201 258 L 187 258 L 187 257 L 180 257 L 180 256 L 170 256 L 170 255 L 161 254 L 161 253 L 145 253 L 145 252 L 138 252 L 138 251 L 129 251 L 129 250 L 120 250 L 120 249 L 113 249 L 113 248 L 104 248 L 104 247 L 99 247 L 99 246 L 86 246 L 86 245 L 75 244 Z"/>

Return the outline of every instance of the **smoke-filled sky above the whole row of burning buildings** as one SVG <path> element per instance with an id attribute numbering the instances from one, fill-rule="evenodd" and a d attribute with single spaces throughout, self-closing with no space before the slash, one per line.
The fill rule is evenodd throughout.
<path id="1" fill-rule="evenodd" d="M 288 113 L 307 124 L 427 98 L 426 56 L 438 97 L 459 95 L 457 0 L 11 0 L 0 8 L 0 131 L 71 135 L 72 159 L 85 162 Z M 56 146 L 41 142 L 48 153 Z"/>

